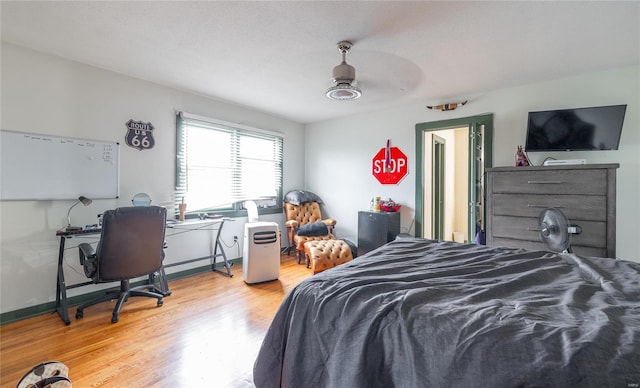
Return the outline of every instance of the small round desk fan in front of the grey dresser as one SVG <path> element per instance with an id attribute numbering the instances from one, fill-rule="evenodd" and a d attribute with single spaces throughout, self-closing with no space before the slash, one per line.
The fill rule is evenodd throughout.
<path id="1" fill-rule="evenodd" d="M 548 208 L 538 219 L 540 238 L 555 252 L 571 253 L 571 235 L 582 233 L 582 228 L 572 225 L 557 208 Z"/>

